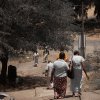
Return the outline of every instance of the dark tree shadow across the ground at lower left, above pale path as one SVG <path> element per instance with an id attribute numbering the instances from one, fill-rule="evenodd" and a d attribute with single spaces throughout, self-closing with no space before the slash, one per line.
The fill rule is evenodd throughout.
<path id="1" fill-rule="evenodd" d="M 5 85 L 0 83 L 1 91 L 16 91 L 16 90 L 26 90 L 34 89 L 36 87 L 44 87 L 47 84 L 47 79 L 45 77 L 39 76 L 26 76 L 18 77 L 16 83 L 7 82 Z"/>

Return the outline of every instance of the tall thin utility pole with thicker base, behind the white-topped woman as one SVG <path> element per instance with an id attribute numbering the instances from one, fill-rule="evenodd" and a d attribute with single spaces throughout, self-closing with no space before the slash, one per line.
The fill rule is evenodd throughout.
<path id="1" fill-rule="evenodd" d="M 84 35 L 84 5 L 82 0 L 82 31 L 80 34 L 80 53 L 85 58 L 85 35 Z"/>

